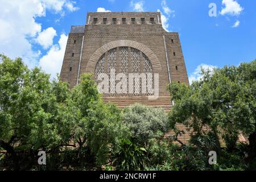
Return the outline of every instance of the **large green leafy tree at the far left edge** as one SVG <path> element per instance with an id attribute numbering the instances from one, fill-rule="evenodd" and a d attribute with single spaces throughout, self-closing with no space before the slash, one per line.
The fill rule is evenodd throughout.
<path id="1" fill-rule="evenodd" d="M 31 154 L 28 156 L 33 160 L 27 162 L 26 169 L 31 167 L 31 161 L 36 161 L 39 149 L 48 151 L 68 141 L 57 114 L 69 92 L 68 86 L 50 82 L 49 75 L 39 68 L 28 69 L 20 58 L 0 58 L 0 147 L 13 159 L 15 170 L 23 164 L 18 154 Z"/>

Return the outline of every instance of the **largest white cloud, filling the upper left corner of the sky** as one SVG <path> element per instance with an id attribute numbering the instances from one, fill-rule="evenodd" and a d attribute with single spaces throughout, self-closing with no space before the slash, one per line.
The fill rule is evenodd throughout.
<path id="1" fill-rule="evenodd" d="M 46 10 L 60 14 L 71 11 L 70 4 L 75 3 L 69 0 L 0 0 L 0 53 L 11 58 L 22 57 L 30 68 L 37 65 L 40 51 L 32 49 L 32 42 L 42 26 L 36 22 L 36 17 L 46 16 Z"/>

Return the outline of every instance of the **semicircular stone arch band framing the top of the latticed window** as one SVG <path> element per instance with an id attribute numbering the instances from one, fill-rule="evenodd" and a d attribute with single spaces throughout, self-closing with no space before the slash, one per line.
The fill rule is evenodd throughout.
<path id="1" fill-rule="evenodd" d="M 116 47 L 131 47 L 131 48 L 138 49 L 148 57 L 148 59 L 151 62 L 154 73 L 159 73 L 162 70 L 158 57 L 150 48 L 148 48 L 144 44 L 135 42 L 133 40 L 115 40 L 113 42 L 107 43 L 104 46 L 98 48 L 97 51 L 93 53 L 93 55 L 90 57 L 90 60 L 86 65 L 85 72 L 94 73 L 98 60 L 100 60 L 101 56 L 104 55 L 105 52 Z"/>

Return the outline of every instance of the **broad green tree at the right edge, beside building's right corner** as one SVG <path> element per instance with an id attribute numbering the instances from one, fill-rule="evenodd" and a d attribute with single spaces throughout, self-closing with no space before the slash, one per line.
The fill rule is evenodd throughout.
<path id="1" fill-rule="evenodd" d="M 201 74 L 203 78 L 191 86 L 175 82 L 169 86 L 175 101 L 168 119 L 171 126 L 184 123 L 202 134 L 202 127 L 208 125 L 216 138 L 220 130 L 224 137 L 229 137 L 229 147 L 236 140 L 230 137 L 243 133 L 249 136 L 249 156 L 254 158 L 256 60 L 239 67 L 215 69 L 213 73 L 203 70 Z"/>

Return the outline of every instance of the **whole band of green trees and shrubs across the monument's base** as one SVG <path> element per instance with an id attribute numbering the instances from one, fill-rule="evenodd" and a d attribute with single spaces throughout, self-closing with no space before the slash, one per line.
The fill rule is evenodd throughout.
<path id="1" fill-rule="evenodd" d="M 0 170 L 255 170 L 256 61 L 202 74 L 191 86 L 168 86 L 175 105 L 167 115 L 105 104 L 90 74 L 71 89 L 0 55 Z M 182 133 L 177 123 L 195 131 L 189 143 L 164 138 L 168 127 Z M 238 134 L 249 144 L 237 143 Z M 212 150 L 215 165 L 208 163 Z M 45 166 L 39 151 L 46 151 Z"/>

